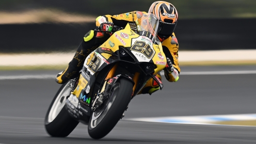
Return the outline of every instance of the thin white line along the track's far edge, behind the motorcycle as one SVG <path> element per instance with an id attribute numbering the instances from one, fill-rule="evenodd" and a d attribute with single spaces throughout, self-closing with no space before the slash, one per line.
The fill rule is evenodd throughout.
<path id="1" fill-rule="evenodd" d="M 160 72 L 164 75 L 164 72 Z M 256 74 L 256 71 L 218 71 L 218 72 L 180 72 L 180 75 L 215 75 L 215 74 Z M 0 80 L 14 80 L 14 79 L 54 79 L 55 74 L 43 75 L 8 75 L 0 76 Z"/>

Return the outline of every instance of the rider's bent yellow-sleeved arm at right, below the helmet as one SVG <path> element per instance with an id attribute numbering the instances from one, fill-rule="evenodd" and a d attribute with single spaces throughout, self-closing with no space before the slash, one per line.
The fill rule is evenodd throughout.
<path id="1" fill-rule="evenodd" d="M 175 71 L 177 72 L 177 74 L 179 74 L 179 72 L 180 72 L 180 68 L 178 66 L 179 45 L 178 45 L 178 41 L 177 41 L 177 38 L 174 33 L 172 34 L 172 36 L 170 36 L 168 39 L 166 39 L 162 42 L 162 48 L 163 48 L 163 52 L 164 52 L 165 56 L 167 58 L 170 58 L 173 66 L 175 68 Z M 167 73 L 167 72 L 165 72 L 165 73 Z M 168 73 L 168 76 L 166 75 L 165 77 L 170 82 L 176 81 L 176 78 L 173 76 L 172 73 Z"/>

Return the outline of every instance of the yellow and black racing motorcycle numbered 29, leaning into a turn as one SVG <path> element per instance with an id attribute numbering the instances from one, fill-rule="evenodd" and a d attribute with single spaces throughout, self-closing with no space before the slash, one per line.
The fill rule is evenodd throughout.
<path id="1" fill-rule="evenodd" d="M 148 80 L 153 78 L 162 89 L 156 74 L 165 68 L 166 58 L 156 37 L 158 29 L 159 20 L 144 14 L 124 29 L 112 30 L 85 59 L 79 77 L 58 90 L 45 118 L 48 134 L 66 137 L 81 122 L 88 125 L 92 138 L 103 138 Z"/>

